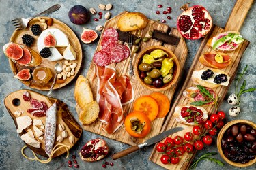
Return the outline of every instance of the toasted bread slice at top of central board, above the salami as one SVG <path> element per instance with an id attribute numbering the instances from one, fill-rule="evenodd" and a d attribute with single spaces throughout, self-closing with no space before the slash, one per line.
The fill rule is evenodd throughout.
<path id="1" fill-rule="evenodd" d="M 147 26 L 147 16 L 140 12 L 128 12 L 117 21 L 117 27 L 121 31 L 134 31 L 144 29 Z"/>

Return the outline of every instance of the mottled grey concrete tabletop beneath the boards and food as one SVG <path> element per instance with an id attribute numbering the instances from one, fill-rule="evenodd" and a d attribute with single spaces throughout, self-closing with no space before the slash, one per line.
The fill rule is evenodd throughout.
<path id="1" fill-rule="evenodd" d="M 165 7 L 172 7 L 173 12 L 170 14 L 172 17 L 171 20 L 167 20 L 167 24 L 170 27 L 176 27 L 176 18 L 179 16 L 181 11 L 180 7 L 186 3 L 187 1 L 175 1 L 175 0 L 160 0 L 160 1 L 145 1 L 145 0 L 129 0 L 129 1 L 107 1 L 107 0 L 59 0 L 59 1 L 29 1 L 29 0 L 0 0 L 1 4 L 1 13 L 0 13 L 0 48 L 3 49 L 3 45 L 7 43 L 14 31 L 14 27 L 12 26 L 10 20 L 16 17 L 29 17 L 33 14 L 41 12 L 45 10 L 47 7 L 54 5 L 55 3 L 61 3 L 61 9 L 57 12 L 53 12 L 48 16 L 57 18 L 62 22 L 68 24 L 68 26 L 76 33 L 76 35 L 80 35 L 83 31 L 83 27 L 87 27 L 89 29 L 95 29 L 98 24 L 104 24 L 105 20 L 102 19 L 99 22 L 94 22 L 91 20 L 88 24 L 84 24 L 82 26 L 78 26 L 72 24 L 68 18 L 68 10 L 73 5 L 83 5 L 89 9 L 89 7 L 95 7 L 98 10 L 98 4 L 103 3 L 112 3 L 113 9 L 111 10 L 112 16 L 119 14 L 124 10 L 130 12 L 143 12 L 147 17 L 151 19 L 162 19 L 166 16 L 161 14 L 157 15 L 156 10 L 158 10 L 158 4 L 162 4 Z M 236 1 L 234 0 L 218 0 L 218 1 L 190 1 L 192 5 L 203 5 L 210 12 L 214 24 L 217 24 L 220 27 L 225 27 L 225 23 L 231 13 L 233 5 Z M 164 9 L 163 8 L 163 9 Z M 163 10 L 161 9 L 161 11 Z M 256 33 L 255 33 L 255 14 L 256 8 L 255 4 L 251 7 L 251 10 L 248 12 L 247 18 L 244 21 L 244 25 L 241 29 L 241 33 L 245 39 L 251 41 L 250 46 L 248 46 L 246 52 L 244 52 L 244 56 L 242 58 L 241 64 L 238 68 L 238 71 L 241 71 L 245 65 L 248 64 L 248 72 L 246 73 L 246 80 L 248 82 L 248 87 L 255 87 L 256 80 L 256 60 L 255 60 L 255 41 L 256 41 Z M 100 35 L 100 33 L 98 33 Z M 199 48 L 201 40 L 197 41 L 189 41 L 186 40 L 186 44 L 188 46 L 188 58 L 184 67 L 184 75 L 188 72 L 190 65 L 193 61 L 193 58 Z M 94 54 L 94 50 L 96 49 L 97 42 L 94 44 L 82 44 L 83 46 L 83 65 L 81 67 L 81 75 L 87 74 L 87 69 L 91 63 L 92 56 Z M 16 129 L 14 123 L 12 122 L 11 116 L 8 114 L 5 106 L 3 105 L 3 99 L 10 92 L 14 92 L 16 90 L 28 88 L 27 86 L 20 83 L 20 81 L 13 79 L 13 73 L 10 69 L 8 59 L 3 54 L 3 50 L 0 53 L 0 169 L 70 169 L 68 168 L 68 160 L 65 159 L 65 155 L 59 156 L 58 158 L 54 158 L 51 163 L 46 165 L 30 161 L 20 154 L 20 149 L 24 146 L 23 141 L 20 139 L 18 134 L 16 133 Z M 76 80 L 76 79 L 75 79 Z M 182 80 L 184 81 L 184 80 Z M 70 108 L 70 111 L 73 113 L 74 118 L 78 120 L 76 112 L 75 112 L 75 101 L 74 101 L 74 84 L 75 81 L 71 82 L 68 86 L 63 87 L 59 90 L 55 90 L 53 92 L 53 97 L 57 99 L 61 99 L 66 102 Z M 41 92 L 39 90 L 35 90 L 46 95 L 46 92 Z M 231 88 L 229 88 L 229 94 L 234 92 L 234 83 L 231 84 Z M 255 122 L 255 109 L 256 109 L 256 94 L 248 93 L 242 96 L 241 108 L 242 112 L 236 118 L 231 118 L 227 116 L 228 120 L 235 119 L 246 119 L 253 120 Z M 225 112 L 228 111 L 230 105 L 227 101 L 224 101 L 221 105 L 221 109 Z M 81 140 L 70 150 L 70 155 L 78 154 L 81 147 L 84 145 L 85 141 L 90 139 L 94 139 L 96 137 L 101 137 L 94 133 L 89 133 L 87 131 L 83 131 L 83 137 Z M 128 145 L 124 143 L 120 143 L 117 141 L 113 141 L 111 139 L 107 139 L 106 137 L 102 137 L 106 139 L 107 143 L 109 143 L 111 153 L 119 152 L 120 150 L 124 150 L 128 148 Z M 216 139 L 215 139 L 216 141 Z M 162 167 L 150 162 L 148 157 L 152 151 L 153 146 L 147 147 L 139 152 L 134 154 L 130 154 L 124 158 L 120 158 L 119 160 L 115 160 L 114 167 L 108 167 L 108 169 L 162 169 Z M 205 152 L 218 152 L 216 148 L 216 143 L 210 147 L 205 147 L 203 150 L 197 152 L 196 158 L 201 156 Z M 215 158 L 221 159 L 218 155 Z M 72 159 L 71 156 L 68 159 Z M 101 169 L 103 160 L 100 160 L 96 163 L 85 163 L 80 158 L 77 158 L 81 169 Z M 104 160 L 111 161 L 111 157 L 107 156 Z M 222 160 L 222 159 L 221 159 Z M 224 161 L 224 160 L 223 160 Z M 219 167 L 215 163 L 211 163 L 208 160 L 203 160 L 198 164 L 197 169 L 240 169 L 237 167 L 232 167 L 225 163 L 225 167 Z M 255 167 L 247 167 L 245 169 L 255 169 Z"/>

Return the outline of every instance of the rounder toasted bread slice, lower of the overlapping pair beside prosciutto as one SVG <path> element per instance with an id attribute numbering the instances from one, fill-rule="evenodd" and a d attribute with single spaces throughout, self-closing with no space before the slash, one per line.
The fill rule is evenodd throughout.
<path id="1" fill-rule="evenodd" d="M 79 114 L 79 120 L 82 124 L 91 124 L 94 122 L 99 115 L 100 107 L 97 101 L 91 101 L 82 109 Z"/>

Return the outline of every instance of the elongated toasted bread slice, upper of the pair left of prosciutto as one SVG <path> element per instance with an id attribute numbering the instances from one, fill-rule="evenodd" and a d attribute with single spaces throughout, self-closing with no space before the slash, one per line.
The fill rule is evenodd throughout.
<path id="1" fill-rule="evenodd" d="M 76 80 L 74 99 L 76 99 L 76 103 L 79 104 L 81 109 L 84 109 L 87 103 L 94 101 L 89 80 L 83 77 L 83 75 L 79 75 L 79 78 Z"/>

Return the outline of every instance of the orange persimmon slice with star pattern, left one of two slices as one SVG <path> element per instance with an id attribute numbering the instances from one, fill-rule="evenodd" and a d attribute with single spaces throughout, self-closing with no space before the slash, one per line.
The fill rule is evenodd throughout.
<path id="1" fill-rule="evenodd" d="M 156 100 L 150 96 L 143 96 L 136 99 L 133 106 L 134 111 L 143 112 L 152 122 L 158 115 L 158 104 Z"/>

